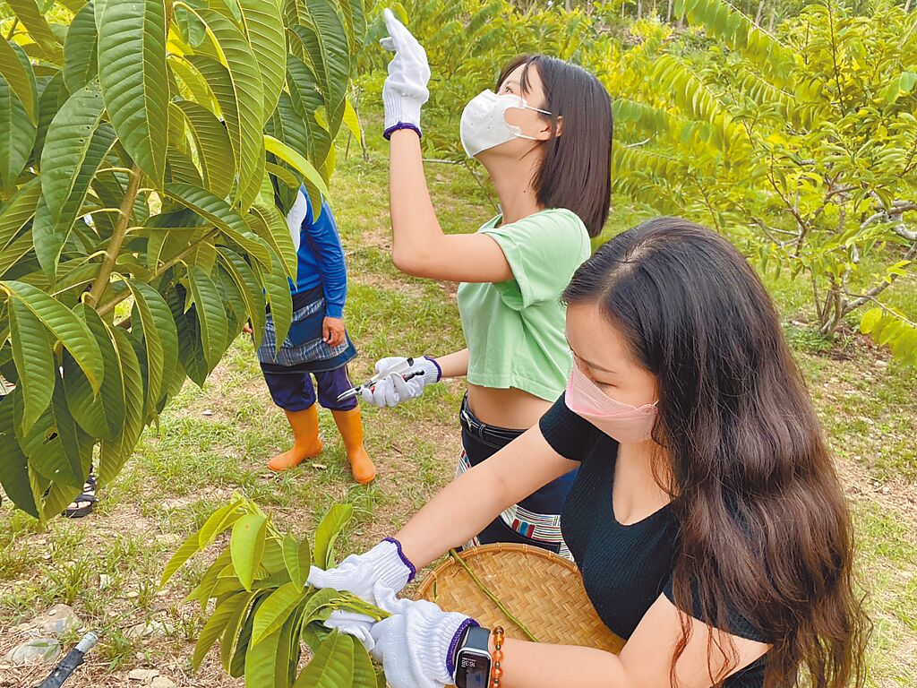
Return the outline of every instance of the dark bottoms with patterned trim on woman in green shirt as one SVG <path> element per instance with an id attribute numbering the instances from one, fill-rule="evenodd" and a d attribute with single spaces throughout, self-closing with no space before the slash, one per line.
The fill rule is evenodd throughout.
<path id="1" fill-rule="evenodd" d="M 486 461 L 525 432 L 482 423 L 471 413 L 467 396 L 462 400 L 460 418 L 462 452 L 457 474 Z M 570 559 L 569 549 L 560 534 L 560 509 L 567 499 L 576 473 L 571 471 L 562 475 L 525 497 L 519 504 L 512 505 L 481 530 L 469 545 L 517 542 L 547 549 Z"/>

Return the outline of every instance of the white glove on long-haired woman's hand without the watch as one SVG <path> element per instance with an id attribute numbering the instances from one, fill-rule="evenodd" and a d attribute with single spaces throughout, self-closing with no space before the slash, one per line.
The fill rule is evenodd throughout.
<path id="1" fill-rule="evenodd" d="M 414 580 L 415 574 L 414 564 L 404 557 L 398 540 L 385 538 L 363 554 L 351 554 L 334 569 L 322 571 L 313 566 L 309 569 L 308 583 L 316 588 L 347 590 L 379 606 L 377 590 L 400 593 Z"/>

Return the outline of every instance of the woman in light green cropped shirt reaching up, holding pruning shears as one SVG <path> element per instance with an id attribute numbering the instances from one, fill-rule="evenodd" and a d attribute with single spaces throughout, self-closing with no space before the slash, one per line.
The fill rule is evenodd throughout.
<path id="1" fill-rule="evenodd" d="M 428 383 L 467 376 L 458 473 L 533 427 L 563 392 L 571 358 L 560 294 L 589 258 L 611 197 L 612 108 L 602 84 L 544 55 L 517 58 L 461 116 L 462 146 L 490 173 L 503 210 L 475 234 L 447 235 L 426 186 L 420 109 L 430 71 L 424 49 L 386 10 L 395 50 L 382 100 L 390 139 L 392 258 L 417 277 L 461 283 L 467 349 L 415 357 L 414 377 L 377 383 L 364 398 L 396 405 Z M 376 364 L 384 370 L 395 357 Z M 575 472 L 513 505 L 474 544 L 522 542 L 569 557 L 560 507 Z"/>

